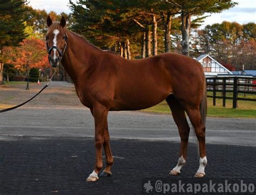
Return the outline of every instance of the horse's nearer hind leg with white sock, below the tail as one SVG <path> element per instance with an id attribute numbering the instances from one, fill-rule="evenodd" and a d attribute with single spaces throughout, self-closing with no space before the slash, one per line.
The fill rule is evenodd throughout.
<path id="1" fill-rule="evenodd" d="M 201 120 L 201 115 L 198 108 L 186 108 L 186 113 L 190 118 L 192 126 L 194 127 L 194 131 L 197 135 L 199 142 L 199 169 L 194 177 L 204 177 L 205 176 L 205 166 L 207 164 L 206 158 L 206 149 L 205 149 L 205 125 Z"/>

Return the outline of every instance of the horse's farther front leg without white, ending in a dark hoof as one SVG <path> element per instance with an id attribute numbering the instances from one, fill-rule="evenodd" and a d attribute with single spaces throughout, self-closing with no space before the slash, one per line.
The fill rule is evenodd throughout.
<path id="1" fill-rule="evenodd" d="M 105 156 L 106 156 L 106 168 L 99 175 L 100 177 L 108 177 L 108 176 L 112 175 L 111 166 L 113 165 L 113 157 L 112 157 L 109 139 L 110 139 L 109 128 L 107 127 L 107 124 L 106 124 L 106 129 L 105 129 L 105 133 L 104 133 L 104 143 L 103 143 Z"/>

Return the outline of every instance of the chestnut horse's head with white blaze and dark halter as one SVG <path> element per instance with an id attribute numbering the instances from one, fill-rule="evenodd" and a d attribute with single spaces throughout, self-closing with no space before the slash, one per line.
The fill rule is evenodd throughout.
<path id="1" fill-rule="evenodd" d="M 52 22 L 50 16 L 47 17 L 48 31 L 45 37 L 46 48 L 49 54 L 49 61 L 52 67 L 56 67 L 66 50 L 66 40 L 68 36 L 64 29 L 66 19 L 62 16 L 60 22 Z"/>

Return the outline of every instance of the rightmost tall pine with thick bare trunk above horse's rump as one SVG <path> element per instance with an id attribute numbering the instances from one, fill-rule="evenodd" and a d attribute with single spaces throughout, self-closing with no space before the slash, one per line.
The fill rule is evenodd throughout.
<path id="1" fill-rule="evenodd" d="M 232 8 L 237 3 L 231 0 L 166 0 L 180 10 L 181 15 L 181 33 L 182 33 L 182 53 L 189 56 L 190 51 L 190 29 L 191 17 L 202 16 L 204 13 L 218 13 L 225 9 Z"/>

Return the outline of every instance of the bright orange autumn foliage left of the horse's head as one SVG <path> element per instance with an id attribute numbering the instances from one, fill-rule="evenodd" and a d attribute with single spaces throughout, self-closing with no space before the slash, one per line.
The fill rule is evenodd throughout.
<path id="1" fill-rule="evenodd" d="M 45 43 L 34 37 L 24 39 L 19 47 L 5 47 L 6 63 L 14 64 L 15 68 L 24 75 L 28 65 L 30 68 L 49 67 Z"/>

